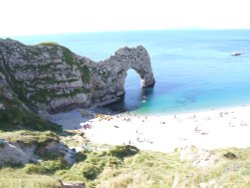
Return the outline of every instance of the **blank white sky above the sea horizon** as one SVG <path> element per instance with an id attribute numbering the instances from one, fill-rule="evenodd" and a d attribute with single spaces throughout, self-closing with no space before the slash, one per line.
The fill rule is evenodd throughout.
<path id="1" fill-rule="evenodd" d="M 0 37 L 75 32 L 250 29 L 249 0 L 0 0 Z"/>

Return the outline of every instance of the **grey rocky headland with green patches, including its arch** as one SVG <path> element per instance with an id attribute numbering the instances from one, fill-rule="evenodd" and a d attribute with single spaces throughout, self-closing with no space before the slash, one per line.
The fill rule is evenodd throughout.
<path id="1" fill-rule="evenodd" d="M 54 43 L 27 46 L 0 39 L 1 79 L 35 111 L 58 112 L 116 102 L 125 93 L 129 69 L 140 75 L 142 87 L 154 85 L 150 57 L 142 46 L 122 48 L 97 63 Z"/>

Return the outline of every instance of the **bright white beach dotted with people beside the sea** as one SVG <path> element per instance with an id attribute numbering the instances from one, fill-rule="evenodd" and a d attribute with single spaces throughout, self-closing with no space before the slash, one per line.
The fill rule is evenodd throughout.
<path id="1" fill-rule="evenodd" d="M 204 149 L 250 146 L 250 106 L 169 115 L 96 115 L 74 110 L 52 116 L 64 129 L 79 129 L 93 143 L 130 144 L 142 150 L 170 152 L 194 145 Z"/>

